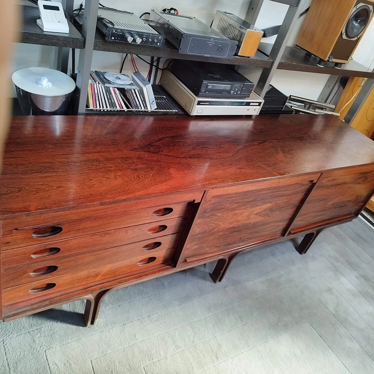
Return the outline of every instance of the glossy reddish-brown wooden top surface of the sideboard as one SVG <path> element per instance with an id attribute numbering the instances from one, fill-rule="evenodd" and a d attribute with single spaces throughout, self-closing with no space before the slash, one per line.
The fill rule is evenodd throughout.
<path id="1" fill-rule="evenodd" d="M 374 163 L 333 116 L 13 117 L 0 215 Z"/>

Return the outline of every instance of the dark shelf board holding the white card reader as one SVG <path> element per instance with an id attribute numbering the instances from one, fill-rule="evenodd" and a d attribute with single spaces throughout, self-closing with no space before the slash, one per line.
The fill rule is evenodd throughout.
<path id="1" fill-rule="evenodd" d="M 55 47 L 68 47 L 83 49 L 85 39 L 79 31 L 68 21 L 69 33 L 47 33 L 37 24 L 36 20 L 40 18 L 38 7 L 21 6 L 22 8 L 22 27 L 19 31 L 19 43 L 40 44 Z"/>

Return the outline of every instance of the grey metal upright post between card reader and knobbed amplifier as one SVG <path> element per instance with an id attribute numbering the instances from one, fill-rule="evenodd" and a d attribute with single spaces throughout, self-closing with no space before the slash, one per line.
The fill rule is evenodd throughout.
<path id="1" fill-rule="evenodd" d="M 93 54 L 93 43 L 95 42 L 95 31 L 99 0 L 86 0 L 85 12 L 83 14 L 82 35 L 85 38 L 84 49 L 79 50 L 78 72 L 77 72 L 77 109 L 76 113 L 84 115 L 86 111 L 88 80 L 91 71 Z"/>

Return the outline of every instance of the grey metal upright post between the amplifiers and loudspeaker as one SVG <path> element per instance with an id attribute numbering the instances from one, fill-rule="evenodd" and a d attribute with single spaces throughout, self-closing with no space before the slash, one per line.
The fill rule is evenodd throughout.
<path id="1" fill-rule="evenodd" d="M 286 4 L 291 3 L 294 5 L 289 5 L 281 29 L 279 30 L 278 36 L 272 50 L 270 51 L 269 58 L 273 60 L 272 67 L 263 69 L 257 86 L 255 87 L 254 91 L 257 93 L 257 95 L 261 96 L 261 98 L 264 98 L 266 94 L 267 88 L 269 87 L 270 82 L 275 74 L 279 61 L 281 61 L 283 52 L 286 49 L 287 43 L 292 35 L 292 32 L 294 31 L 298 16 L 300 14 L 300 0 L 277 2 Z"/>

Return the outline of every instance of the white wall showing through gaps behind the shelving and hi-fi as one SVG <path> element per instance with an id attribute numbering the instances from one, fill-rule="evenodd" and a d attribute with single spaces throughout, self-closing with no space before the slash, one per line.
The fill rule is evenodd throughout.
<path id="1" fill-rule="evenodd" d="M 31 3 L 22 0 L 25 4 Z M 301 11 L 306 9 L 312 0 L 301 0 Z M 128 10 L 137 15 L 149 11 L 149 9 L 161 10 L 164 7 L 176 7 L 181 14 L 193 15 L 201 21 L 210 24 L 217 9 L 227 10 L 238 16 L 244 18 L 250 0 L 142 0 L 142 1 L 123 1 L 123 0 L 102 0 L 101 3 L 105 6 L 110 6 L 120 10 Z M 78 8 L 81 1 L 74 0 L 74 7 Z M 84 3 L 84 1 L 83 1 Z M 126 4 L 129 4 L 128 6 Z M 258 16 L 256 26 L 259 28 L 270 27 L 282 23 L 283 18 L 287 12 L 288 6 L 285 4 L 275 3 L 274 1 L 265 0 L 261 12 Z M 300 12 L 301 12 L 300 11 Z M 144 17 L 146 18 L 146 16 Z M 298 21 L 295 33 L 289 41 L 289 45 L 294 44 L 297 36 L 297 31 L 301 27 L 304 17 Z M 263 39 L 264 42 L 273 43 L 274 37 Z M 353 58 L 361 64 L 374 68 L 374 21 L 369 26 L 366 34 L 361 40 L 356 49 Z M 27 66 L 43 66 L 56 67 L 56 47 L 17 44 L 15 60 L 13 62 L 12 71 Z M 79 53 L 77 53 L 76 61 L 78 61 Z M 93 52 L 92 69 L 104 71 L 119 71 L 124 55 L 120 53 L 110 52 Z M 148 65 L 136 58 L 139 70 L 146 74 Z M 148 59 L 149 57 L 145 57 Z M 165 59 L 161 60 L 163 63 Z M 131 73 L 131 59 L 128 58 L 125 63 L 124 72 Z M 261 69 L 241 67 L 239 70 L 249 79 L 257 81 Z M 309 99 L 318 99 L 319 94 L 328 80 L 326 74 L 312 74 L 295 71 L 277 70 L 273 77 L 272 84 L 280 89 L 285 95 L 303 96 Z M 12 93 L 15 95 L 14 92 Z"/>

